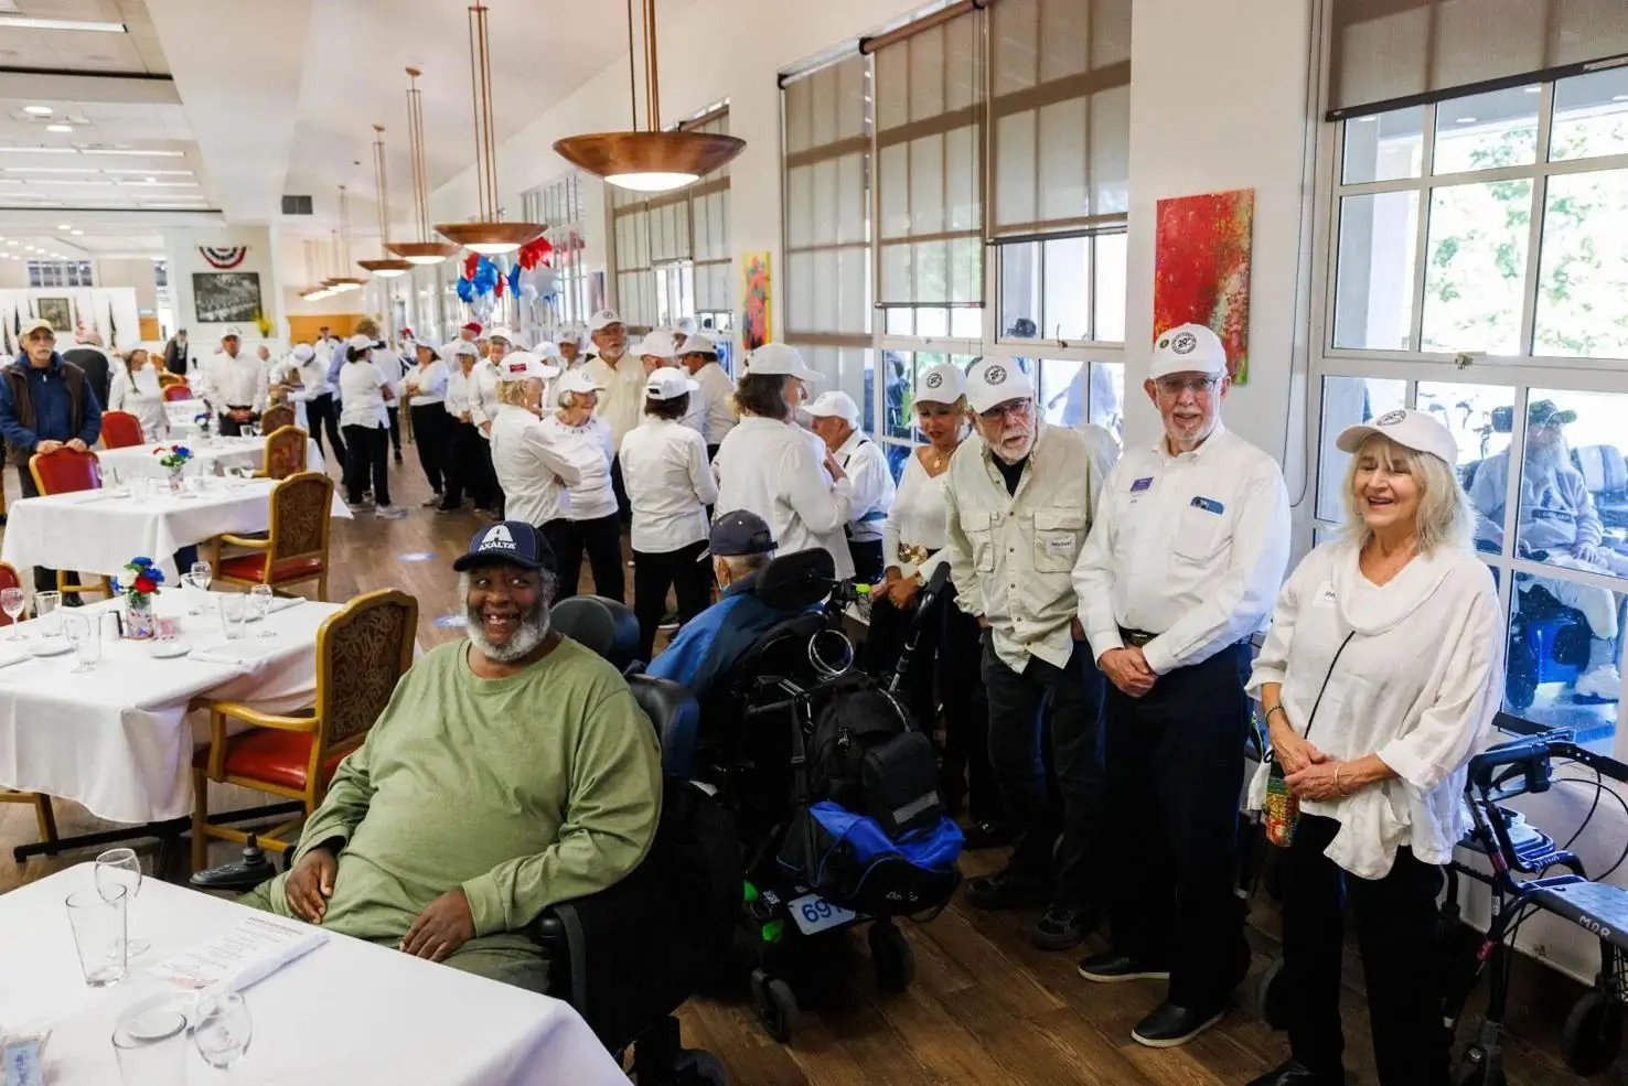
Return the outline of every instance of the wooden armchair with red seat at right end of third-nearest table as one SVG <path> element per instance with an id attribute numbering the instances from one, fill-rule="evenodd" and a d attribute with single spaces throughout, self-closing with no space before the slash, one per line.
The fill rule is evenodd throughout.
<path id="1" fill-rule="evenodd" d="M 303 453 L 303 448 L 301 448 Z M 217 536 L 213 565 L 217 585 L 290 585 L 316 581 L 316 598 L 327 599 L 327 529 L 334 480 L 322 472 L 300 472 L 272 490 L 272 529 L 265 539 Z M 225 547 L 249 554 L 223 555 Z"/>

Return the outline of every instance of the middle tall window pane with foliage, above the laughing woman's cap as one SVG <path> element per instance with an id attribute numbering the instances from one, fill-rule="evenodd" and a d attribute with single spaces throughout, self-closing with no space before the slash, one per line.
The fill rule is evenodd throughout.
<path id="1" fill-rule="evenodd" d="M 1431 190 L 1421 347 L 1519 355 L 1530 181 Z"/>

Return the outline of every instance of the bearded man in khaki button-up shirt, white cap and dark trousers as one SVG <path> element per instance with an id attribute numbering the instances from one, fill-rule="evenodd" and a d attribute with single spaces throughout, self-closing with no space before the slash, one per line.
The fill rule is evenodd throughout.
<path id="1" fill-rule="evenodd" d="M 1068 949 L 1084 939 L 1101 897 L 1086 887 L 1086 865 L 1102 791 L 1102 677 L 1074 617 L 1070 571 L 1118 446 L 1102 427 L 1045 425 L 1034 386 L 1008 358 L 972 366 L 967 405 L 982 441 L 964 441 L 949 466 L 946 554 L 959 606 L 985 627 L 990 764 L 1017 834 L 1006 869 L 974 879 L 967 900 L 982 909 L 1048 902 L 1032 939 Z M 1060 804 L 1047 795 L 1042 707 Z"/>

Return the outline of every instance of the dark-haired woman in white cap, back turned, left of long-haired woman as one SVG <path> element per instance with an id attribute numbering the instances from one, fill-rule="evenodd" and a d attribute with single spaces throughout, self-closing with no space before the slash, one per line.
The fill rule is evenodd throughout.
<path id="1" fill-rule="evenodd" d="M 645 661 L 667 589 L 679 599 L 681 624 L 711 602 L 707 506 L 718 500 L 718 484 L 702 435 L 682 423 L 698 388 L 682 370 L 656 370 L 645 383 L 645 422 L 622 438 L 622 477 L 633 506 L 633 612 Z"/>

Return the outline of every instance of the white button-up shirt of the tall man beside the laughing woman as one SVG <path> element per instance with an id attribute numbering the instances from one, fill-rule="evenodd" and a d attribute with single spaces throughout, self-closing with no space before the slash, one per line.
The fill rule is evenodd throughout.
<path id="1" fill-rule="evenodd" d="M 1120 627 L 1156 633 L 1154 674 L 1210 659 L 1267 625 L 1289 562 L 1289 495 L 1276 461 L 1219 422 L 1192 453 L 1164 438 L 1115 466 L 1074 570 L 1091 651 Z"/>

